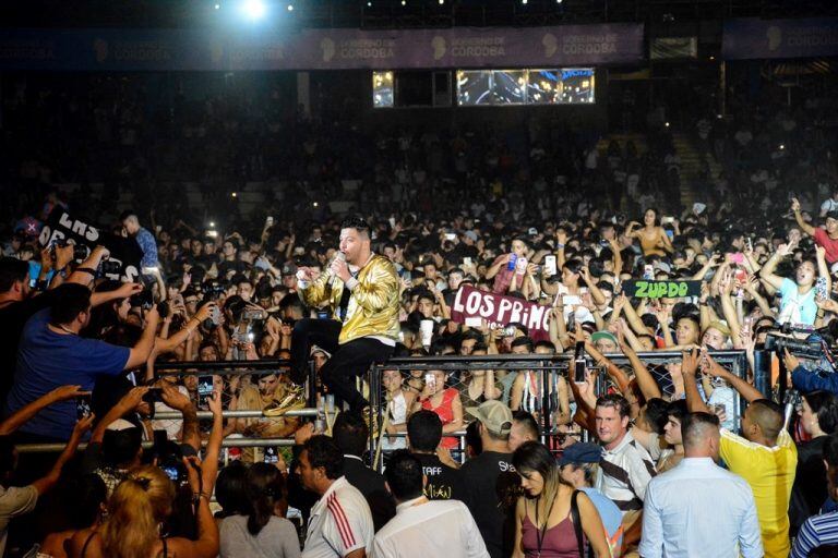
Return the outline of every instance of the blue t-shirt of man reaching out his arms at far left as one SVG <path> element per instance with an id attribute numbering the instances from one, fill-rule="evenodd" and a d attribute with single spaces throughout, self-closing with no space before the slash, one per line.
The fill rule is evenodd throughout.
<path id="1" fill-rule="evenodd" d="M 5 413 L 60 386 L 79 385 L 92 390 L 96 376 L 116 376 L 128 364 L 131 350 L 76 335 L 56 333 L 47 327 L 49 308 L 32 316 L 23 328 Z M 69 439 L 75 425 L 75 401 L 61 401 L 40 411 L 20 429 L 57 439 Z"/>

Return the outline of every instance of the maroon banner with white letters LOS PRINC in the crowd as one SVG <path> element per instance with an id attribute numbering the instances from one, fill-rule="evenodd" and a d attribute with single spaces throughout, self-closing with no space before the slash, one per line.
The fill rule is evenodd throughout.
<path id="1" fill-rule="evenodd" d="M 451 306 L 451 319 L 458 324 L 475 320 L 475 326 L 484 319 L 492 329 L 522 324 L 530 338 L 540 341 L 550 337 L 550 311 L 551 306 L 463 286 Z"/>

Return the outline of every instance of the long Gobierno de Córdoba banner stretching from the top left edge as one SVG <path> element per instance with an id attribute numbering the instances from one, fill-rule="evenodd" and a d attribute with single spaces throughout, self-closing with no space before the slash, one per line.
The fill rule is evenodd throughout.
<path id="1" fill-rule="evenodd" d="M 3 29 L 0 69 L 67 71 L 555 68 L 643 60 L 643 24 L 447 29 Z"/>

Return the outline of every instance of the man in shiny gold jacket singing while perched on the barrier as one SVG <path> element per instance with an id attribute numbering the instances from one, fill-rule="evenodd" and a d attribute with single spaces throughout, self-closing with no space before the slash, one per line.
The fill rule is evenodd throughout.
<path id="1" fill-rule="evenodd" d="M 384 362 L 398 339 L 398 274 L 393 263 L 371 248 L 370 227 L 359 218 L 340 226 L 340 252 L 325 272 L 311 267 L 297 271 L 298 292 L 308 306 L 327 307 L 334 319 L 301 319 L 291 335 L 294 379 L 306 377 L 311 344 L 332 357 L 321 379 L 350 409 L 369 403 L 355 379 L 373 362 Z"/>

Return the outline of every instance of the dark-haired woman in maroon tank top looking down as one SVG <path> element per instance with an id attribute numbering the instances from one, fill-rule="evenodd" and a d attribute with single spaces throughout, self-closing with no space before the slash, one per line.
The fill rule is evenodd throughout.
<path id="1" fill-rule="evenodd" d="M 524 495 L 515 508 L 514 558 L 611 555 L 597 508 L 562 477 L 555 458 L 543 445 L 527 441 L 515 450 L 513 465 Z"/>

